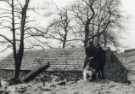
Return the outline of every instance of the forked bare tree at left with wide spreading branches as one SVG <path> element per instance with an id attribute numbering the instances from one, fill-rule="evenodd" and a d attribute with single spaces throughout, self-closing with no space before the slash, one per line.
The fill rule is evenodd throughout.
<path id="1" fill-rule="evenodd" d="M 29 49 L 37 45 L 42 47 L 42 45 L 39 44 L 41 43 L 40 39 L 42 39 L 42 37 L 44 39 L 46 38 L 46 32 L 43 27 L 33 25 L 36 20 L 31 20 L 30 12 L 39 14 L 39 9 L 29 6 L 30 0 L 3 0 L 1 2 L 4 2 L 7 7 L 0 8 L 0 24 L 6 22 L 6 24 L 1 24 L 0 28 L 8 31 L 7 34 L 11 35 L 7 36 L 6 34 L 0 34 L 0 37 L 4 39 L 1 41 L 1 43 L 8 44 L 7 48 L 12 47 L 15 65 L 15 75 L 12 80 L 16 82 L 20 81 L 19 76 L 24 50 L 29 48 L 27 47 L 27 44 L 30 44 L 30 40 L 36 40 L 34 45 L 30 44 L 31 47 Z M 35 73 L 37 73 L 36 70 L 33 72 L 33 74 Z M 26 77 L 26 79 L 30 78 Z"/>

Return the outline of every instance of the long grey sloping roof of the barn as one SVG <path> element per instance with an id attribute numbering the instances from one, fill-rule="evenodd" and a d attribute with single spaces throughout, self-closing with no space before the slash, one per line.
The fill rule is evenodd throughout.
<path id="1" fill-rule="evenodd" d="M 81 70 L 84 62 L 84 49 L 27 50 L 24 52 L 21 70 L 32 70 L 50 63 L 48 70 Z M 0 69 L 14 70 L 12 54 L 0 61 Z"/>

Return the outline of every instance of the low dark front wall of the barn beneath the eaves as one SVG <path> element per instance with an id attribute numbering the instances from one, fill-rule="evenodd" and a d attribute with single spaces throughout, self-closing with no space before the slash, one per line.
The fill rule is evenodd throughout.
<path id="1" fill-rule="evenodd" d="M 29 71 L 21 71 L 20 77 L 24 77 Z M 52 76 L 57 76 L 59 80 L 79 80 L 82 79 L 82 71 L 44 71 L 40 73 L 37 78 L 38 80 L 42 79 L 44 75 L 44 80 L 50 81 Z M 0 69 L 0 79 L 11 79 L 14 77 L 13 70 Z"/>

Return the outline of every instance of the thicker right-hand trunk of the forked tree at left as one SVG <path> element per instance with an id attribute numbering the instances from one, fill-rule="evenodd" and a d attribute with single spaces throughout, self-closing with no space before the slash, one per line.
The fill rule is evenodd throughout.
<path id="1" fill-rule="evenodd" d="M 20 28 L 20 47 L 18 52 L 16 53 L 16 59 L 15 59 L 15 80 L 19 80 L 19 75 L 21 71 L 21 64 L 24 54 L 24 33 L 25 33 L 25 24 L 26 24 L 26 15 L 27 15 L 27 9 L 29 5 L 29 0 L 25 1 L 25 5 L 22 8 L 22 14 L 21 14 L 21 28 Z"/>

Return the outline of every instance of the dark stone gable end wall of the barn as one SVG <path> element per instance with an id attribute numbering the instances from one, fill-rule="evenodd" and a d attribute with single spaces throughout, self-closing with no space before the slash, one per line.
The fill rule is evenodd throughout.
<path id="1" fill-rule="evenodd" d="M 128 69 L 124 65 L 124 57 L 111 51 L 106 52 L 105 77 L 116 82 L 128 81 Z"/>

